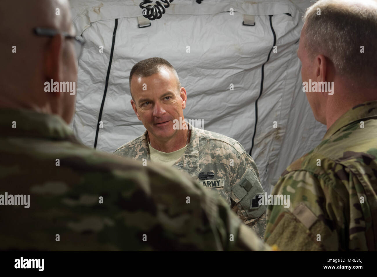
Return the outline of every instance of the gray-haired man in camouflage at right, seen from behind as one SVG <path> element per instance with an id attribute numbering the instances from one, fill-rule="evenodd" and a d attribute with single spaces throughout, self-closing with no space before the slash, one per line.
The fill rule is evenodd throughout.
<path id="1" fill-rule="evenodd" d="M 376 30 L 375 1 L 319 1 L 305 14 L 301 76 L 327 132 L 274 187 L 290 195 L 289 208 L 268 207 L 265 239 L 281 250 L 376 250 Z"/>

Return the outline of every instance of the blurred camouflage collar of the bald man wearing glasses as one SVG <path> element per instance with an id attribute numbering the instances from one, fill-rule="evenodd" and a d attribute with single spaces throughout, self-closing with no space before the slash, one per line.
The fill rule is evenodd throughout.
<path id="1" fill-rule="evenodd" d="M 0 109 L 0 128 L 0 136 L 68 139 L 78 142 L 60 116 L 32 110 Z"/>

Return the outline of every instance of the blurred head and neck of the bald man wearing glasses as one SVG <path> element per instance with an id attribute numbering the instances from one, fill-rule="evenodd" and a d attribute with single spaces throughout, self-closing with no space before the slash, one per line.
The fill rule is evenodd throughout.
<path id="1" fill-rule="evenodd" d="M 33 17 L 34 24 L 30 21 L 25 24 L 17 17 L 9 16 L 6 7 L 2 8 L 2 24 L 12 28 L 1 31 L 2 45 L 11 47 L 11 50 L 13 47 L 15 53 L 3 55 L 3 68 L 13 70 L 6 75 L 2 74 L 0 83 L 3 87 L 2 106 L 21 106 L 38 112 L 54 113 L 70 122 L 74 114 L 75 97 L 69 93 L 61 93 L 56 89 L 52 93 L 46 93 L 44 90 L 35 89 L 35 92 L 24 95 L 24 91 L 18 91 L 18 87 L 31 91 L 37 88 L 41 81 L 45 83 L 53 80 L 59 84 L 63 81 L 76 82 L 77 58 L 83 41 L 75 39 L 74 26 L 68 17 L 69 8 L 61 3 L 63 2 L 41 1 L 38 5 L 33 5 L 29 12 L 25 10 L 26 5 L 29 6 L 26 1 L 14 4 L 18 5 L 17 12 L 25 12 L 25 18 L 31 14 L 36 15 L 38 11 L 45 15 Z M 60 15 L 55 13 L 57 8 L 60 9 Z M 4 49 L 2 53 L 7 52 L 8 49 Z M 32 67 L 42 70 L 33 70 Z M 30 70 L 33 70 L 32 74 Z"/>

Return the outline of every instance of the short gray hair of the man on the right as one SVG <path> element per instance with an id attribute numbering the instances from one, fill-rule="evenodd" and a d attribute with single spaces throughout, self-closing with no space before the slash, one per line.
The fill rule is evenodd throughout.
<path id="1" fill-rule="evenodd" d="M 303 21 L 305 48 L 311 59 L 325 55 L 339 75 L 368 87 L 377 83 L 375 0 L 319 0 L 307 9 Z"/>

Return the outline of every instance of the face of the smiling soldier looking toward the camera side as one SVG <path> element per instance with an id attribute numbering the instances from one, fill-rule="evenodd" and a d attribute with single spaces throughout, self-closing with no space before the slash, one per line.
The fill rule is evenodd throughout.
<path id="1" fill-rule="evenodd" d="M 158 140 L 175 136 L 178 130 L 173 129 L 173 120 L 184 118 L 186 91 L 184 87 L 178 91 L 176 82 L 175 75 L 165 67 L 148 77 L 134 75 L 131 80 L 132 108 L 149 135 Z"/>

